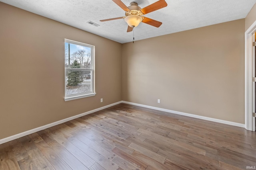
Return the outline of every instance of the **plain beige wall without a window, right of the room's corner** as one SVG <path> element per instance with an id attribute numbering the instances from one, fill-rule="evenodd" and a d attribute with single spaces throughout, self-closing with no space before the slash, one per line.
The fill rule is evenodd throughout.
<path id="1" fill-rule="evenodd" d="M 244 19 L 123 44 L 122 98 L 244 123 Z"/>

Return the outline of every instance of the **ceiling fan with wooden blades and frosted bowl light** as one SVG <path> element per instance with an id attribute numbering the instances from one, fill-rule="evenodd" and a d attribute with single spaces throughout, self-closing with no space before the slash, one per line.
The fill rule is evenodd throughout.
<path id="1" fill-rule="evenodd" d="M 162 25 L 162 22 L 144 17 L 143 15 L 166 7 L 167 3 L 165 2 L 165 0 L 158 0 L 155 3 L 146 6 L 145 8 L 140 8 L 136 2 L 131 2 L 130 6 L 127 7 L 121 0 L 112 1 L 114 1 L 120 8 L 125 11 L 125 17 L 110 18 L 100 21 L 124 19 L 124 21 L 126 21 L 126 23 L 128 24 L 127 32 L 132 31 L 134 27 L 140 24 L 140 22 L 147 23 L 154 27 L 160 27 L 160 25 Z"/>

